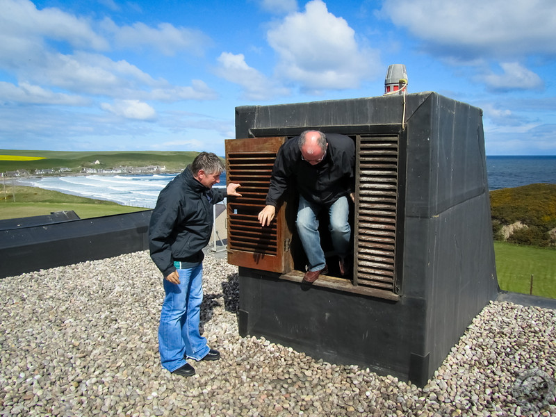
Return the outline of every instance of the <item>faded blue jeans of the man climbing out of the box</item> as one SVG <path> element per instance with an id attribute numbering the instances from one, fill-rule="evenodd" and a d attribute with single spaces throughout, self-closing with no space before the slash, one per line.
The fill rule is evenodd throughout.
<path id="1" fill-rule="evenodd" d="M 325 206 L 308 202 L 300 196 L 300 205 L 297 207 L 297 233 L 307 256 L 309 271 L 318 271 L 325 268 L 325 252 L 320 246 L 318 234 L 318 213 Z M 332 245 L 338 256 L 346 256 L 350 252 L 351 227 L 348 220 L 350 206 L 347 197 L 341 197 L 328 208 L 329 231 Z"/>

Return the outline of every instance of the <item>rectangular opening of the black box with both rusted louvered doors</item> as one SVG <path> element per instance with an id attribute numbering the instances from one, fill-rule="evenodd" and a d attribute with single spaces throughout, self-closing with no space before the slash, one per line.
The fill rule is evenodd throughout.
<path id="1" fill-rule="evenodd" d="M 270 227 L 261 227 L 257 218 L 265 206 L 277 151 L 285 140 L 299 133 L 279 138 L 227 140 L 226 158 L 228 181 L 241 183 L 243 195 L 228 202 L 228 261 L 246 268 L 279 272 L 281 279 L 301 282 L 306 259 L 295 231 L 295 191 L 286 195 Z M 320 218 L 320 236 L 322 248 L 331 259 L 330 272 L 321 275 L 313 285 L 398 300 L 397 265 L 401 251 L 397 241 L 402 230 L 399 178 L 403 174 L 399 126 L 397 131 L 386 126 L 377 129 L 377 133 L 336 133 L 349 136 L 356 145 L 356 201 L 350 213 L 352 272 L 345 277 L 339 275 L 338 258 L 332 251 L 324 213 Z"/>

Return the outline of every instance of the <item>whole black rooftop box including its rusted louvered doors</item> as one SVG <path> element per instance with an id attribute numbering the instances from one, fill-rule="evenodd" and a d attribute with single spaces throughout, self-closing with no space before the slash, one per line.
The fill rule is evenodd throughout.
<path id="1" fill-rule="evenodd" d="M 295 192 L 272 227 L 256 219 L 277 149 L 306 129 L 343 133 L 357 149 L 354 270 L 312 286 L 301 283 Z M 227 214 L 240 333 L 426 384 L 498 294 L 482 111 L 435 92 L 241 106 L 236 138 L 227 180 L 243 197 Z"/>

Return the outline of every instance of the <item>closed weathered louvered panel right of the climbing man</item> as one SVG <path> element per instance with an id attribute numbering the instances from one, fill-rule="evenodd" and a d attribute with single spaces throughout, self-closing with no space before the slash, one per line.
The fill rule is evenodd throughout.
<path id="1" fill-rule="evenodd" d="M 354 285 L 396 292 L 398 136 L 357 136 Z"/>

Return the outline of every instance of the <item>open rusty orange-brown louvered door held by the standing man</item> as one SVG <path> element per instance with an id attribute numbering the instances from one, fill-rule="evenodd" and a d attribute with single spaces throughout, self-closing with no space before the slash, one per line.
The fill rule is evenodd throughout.
<path id="1" fill-rule="evenodd" d="M 228 262 L 258 270 L 286 274 L 292 269 L 291 232 L 286 204 L 277 208 L 270 226 L 261 227 L 259 212 L 265 206 L 272 166 L 286 137 L 226 140 L 227 182 L 240 183 L 242 197 L 229 197 Z"/>

